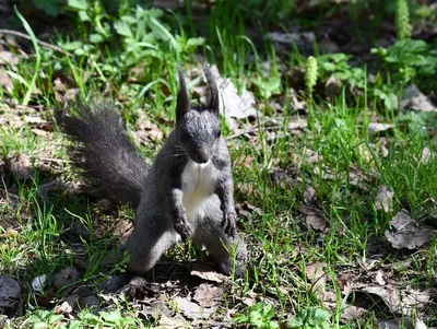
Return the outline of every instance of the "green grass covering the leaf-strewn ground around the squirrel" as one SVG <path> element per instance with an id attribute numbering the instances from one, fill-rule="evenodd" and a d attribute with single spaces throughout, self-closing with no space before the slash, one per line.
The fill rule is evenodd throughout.
<path id="1" fill-rule="evenodd" d="M 265 9 L 265 14 L 279 20 L 274 8 L 280 3 L 281 1 L 274 1 L 274 5 Z M 135 10 L 138 11 L 132 7 L 123 12 L 126 15 L 134 15 Z M 110 37 L 101 31 L 106 39 L 93 44 L 90 36 L 99 33 L 95 27 L 98 26 L 96 21 L 81 22 L 76 16 L 70 16 L 71 20 L 78 20 L 76 30 L 69 38 L 59 36 L 54 43 L 59 43 L 71 55 L 42 48 L 33 38 L 35 55 L 26 60 L 22 59 L 16 68 L 8 68 L 14 72 L 10 74 L 14 87 L 12 93 L 5 90 L 1 92 L 4 98 L 0 101 L 0 114 L 4 118 L 12 116 L 23 121 L 23 115 L 14 108 L 13 103 L 40 105 L 42 108 L 37 111 L 31 110 L 31 115 L 40 115 L 47 121 L 52 121 L 54 109 L 61 103 L 59 92 L 52 87 L 52 80 L 56 74 L 62 73 L 64 75 L 61 75 L 61 81 L 66 85 L 70 84 L 68 90 L 76 89 L 83 97 L 98 95 L 116 101 L 122 108 L 123 119 L 130 130 L 139 129 L 141 122 L 138 118 L 143 111 L 147 119 L 168 133 L 174 119 L 176 64 L 182 64 L 186 72 L 196 72 L 193 54 L 197 49 L 203 51 L 210 61 L 217 64 L 222 77 L 231 78 L 239 90 L 252 91 L 257 96 L 257 106 L 263 109 L 261 117 L 249 124 L 258 125 L 255 139 L 238 137 L 228 140 L 234 162 L 236 201 L 247 201 L 261 209 L 261 213 L 253 213 L 249 220 L 241 218 L 238 221 L 240 232 L 249 242 L 255 268 L 243 279 L 231 278 L 231 286 L 227 289 L 225 302 L 221 303 L 220 313 L 225 314 L 234 308 L 239 314 L 245 314 L 251 308 L 241 301 L 245 297 L 251 299 L 256 295 L 256 302 L 274 302 L 273 315 L 269 318 L 273 322 L 285 324 L 288 316 L 305 313 L 310 307 L 328 310 L 332 328 L 376 328 L 379 320 L 399 318 L 383 303 L 367 298 L 365 315 L 356 320 L 341 320 L 344 304 L 363 299 L 363 294 L 344 289 L 339 278 L 347 271 L 353 272 L 356 278 L 367 275 L 406 258 L 412 259 L 411 268 L 404 271 L 387 270 L 392 278 L 412 289 L 422 290 L 435 284 L 435 237 L 423 252 L 403 255 L 381 249 L 383 257 L 377 258 L 375 262 L 371 261 L 375 255 L 368 255 L 366 248 L 370 239 L 385 238 L 389 221 L 398 211 L 406 209 L 420 224 L 432 220 L 429 211 L 436 212 L 433 198 L 437 196 L 437 161 L 435 155 L 426 162 L 422 161 L 425 148 L 434 152 L 437 149 L 435 139 L 422 129 L 423 126 L 433 126 L 433 117 L 425 118 L 422 126 L 413 125 L 413 120 L 400 122 L 397 109 L 388 109 L 382 102 L 376 99 L 375 90 L 382 86 L 367 82 L 365 77 L 364 81 L 359 81 L 364 83 L 363 94 L 354 95 L 353 98 L 343 90 L 339 96 L 328 99 L 319 93 L 317 85 L 310 95 L 306 86 L 302 85 L 299 97 L 306 101 L 309 110 L 300 116 L 308 119 L 308 127 L 293 134 L 287 125 L 297 116 L 290 106 L 288 78 L 285 77 L 286 73 L 280 72 L 279 64 L 304 68 L 305 58 L 297 50 L 288 58 L 280 58 L 269 42 L 261 46 L 255 45 L 245 36 L 245 10 L 248 9 L 218 1 L 213 10 L 216 15 L 210 22 L 204 45 L 194 39 L 199 35 L 196 34 L 196 22 L 191 21 L 191 13 L 187 16 L 180 13 L 158 15 L 156 22 L 152 23 L 153 28 L 147 25 L 147 31 L 155 34 L 153 43 L 156 47 L 153 51 L 150 51 L 149 44 L 139 44 L 145 43 L 139 39 L 141 28 L 144 27 L 139 22 L 143 22 L 143 19 L 129 23 L 137 39 L 129 39 L 126 36 L 128 33 Z M 97 20 L 95 8 L 90 7 L 87 13 L 93 20 Z M 224 17 L 229 17 L 227 25 L 221 23 Z M 99 16 L 98 20 L 108 24 L 121 22 L 118 16 L 110 20 Z M 273 24 L 276 24 L 274 20 Z M 172 25 L 168 22 L 175 21 L 181 22 L 180 31 L 169 27 Z M 29 33 L 28 28 L 26 31 Z M 188 47 L 190 38 L 198 48 Z M 74 45 L 73 42 L 81 44 Z M 16 49 L 11 46 L 10 51 L 15 52 Z M 264 60 L 271 64 L 270 74 L 263 74 L 260 68 Z M 323 61 L 319 60 L 319 66 L 321 63 Z M 402 62 L 402 66 L 405 64 Z M 362 69 L 367 73 L 364 67 Z M 352 69 L 341 67 L 334 72 L 340 70 L 344 73 Z M 381 66 L 378 72 L 381 77 L 387 77 L 390 70 L 392 68 Z M 323 74 L 327 75 L 326 72 L 319 74 L 322 81 L 327 79 Z M 354 85 L 351 81 L 344 79 L 344 86 L 347 83 Z M 381 83 L 400 91 L 404 82 Z M 190 86 L 190 82 L 188 85 Z M 38 90 L 37 93 L 34 86 Z M 275 109 L 275 103 L 281 105 L 281 111 Z M 274 118 L 277 128 L 269 130 L 264 116 Z M 368 127 L 374 117 L 379 122 L 397 125 L 387 132 L 387 137 L 369 134 Z M 155 326 L 153 319 L 138 317 L 137 309 L 127 301 L 107 303 L 107 313 L 99 315 L 93 315 L 92 310 L 82 310 L 75 320 L 70 320 L 55 315 L 55 305 L 47 306 L 42 302 L 44 298 L 51 298 L 58 305 L 64 296 L 62 291 L 50 291 L 49 284 L 42 292 L 31 289 L 36 277 L 46 274 L 51 279 L 59 270 L 71 266 L 79 270 L 80 284 L 96 292 L 99 282 L 120 271 L 126 265 L 126 259 L 113 266 L 105 265 L 106 257 L 110 256 L 111 247 L 116 244 L 111 234 L 114 223 L 120 219 L 130 221 L 133 218 L 132 210 L 127 209 L 108 214 L 97 200 L 83 195 L 54 190 L 48 198 L 40 198 L 38 187 L 47 179 L 57 177 L 71 183 L 75 181 L 76 173 L 69 163 L 64 150 L 66 140 L 56 125 L 54 131 L 48 131 L 43 137 L 36 136 L 32 131 L 33 127 L 32 124 L 19 127 L 7 124 L 0 128 L 2 156 L 10 158 L 25 154 L 34 166 L 33 179 L 24 181 L 10 177 L 0 186 L 1 196 L 7 197 L 5 202 L 0 202 L 0 216 L 4 220 L 13 219 L 17 231 L 16 236 L 4 234 L 1 237 L 0 271 L 27 283 L 23 284 L 25 313 L 5 327 L 56 328 L 60 321 L 64 321 L 67 328 Z M 224 129 L 224 134 L 229 137 L 232 132 Z M 162 141 L 155 141 L 142 145 L 141 152 L 152 160 L 161 144 Z M 381 151 L 381 145 L 387 149 L 387 154 Z M 317 154 L 318 160 L 311 157 L 308 150 Z M 55 174 L 44 173 L 40 169 L 42 158 L 60 161 L 58 171 Z M 270 174 L 277 168 L 288 171 L 286 176 L 290 185 L 272 183 Z M 356 180 L 356 175 L 362 178 Z M 393 207 L 388 213 L 376 208 L 375 197 L 381 185 L 394 192 Z M 315 190 L 315 197 L 308 202 L 305 191 L 309 187 Z M 328 230 L 319 232 L 308 228 L 302 204 L 319 211 Z M 87 239 L 75 233 L 73 226 L 78 222 L 90 232 Z M 202 252 L 191 245 L 177 246 L 167 256 L 175 262 L 203 258 Z M 332 293 L 331 307 L 324 305 L 314 283 L 306 278 L 307 267 L 314 262 L 326 263 L 324 290 Z M 172 306 L 172 296 L 167 297 Z M 174 310 L 176 314 L 180 312 L 176 308 Z M 265 307 L 251 310 L 258 314 L 268 313 Z M 416 314 L 413 309 L 405 317 L 411 316 L 414 319 Z M 436 316 L 436 312 L 429 307 L 421 318 L 432 325 Z M 263 321 L 267 324 L 268 320 Z M 248 324 L 249 320 L 243 322 Z M 206 328 L 208 321 L 203 326 Z"/>

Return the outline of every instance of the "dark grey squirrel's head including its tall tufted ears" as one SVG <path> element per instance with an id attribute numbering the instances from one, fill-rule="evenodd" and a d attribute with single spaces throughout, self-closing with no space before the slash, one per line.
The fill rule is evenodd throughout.
<path id="1" fill-rule="evenodd" d="M 185 78 L 180 69 L 179 92 L 176 105 L 176 131 L 178 144 L 197 163 L 206 163 L 221 138 L 218 118 L 218 91 L 208 64 L 203 63 L 209 97 L 206 104 L 192 107 L 188 98 Z"/>

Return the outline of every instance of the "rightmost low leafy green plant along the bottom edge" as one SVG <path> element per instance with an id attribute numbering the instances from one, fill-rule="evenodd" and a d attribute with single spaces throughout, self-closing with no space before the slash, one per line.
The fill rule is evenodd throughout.
<path id="1" fill-rule="evenodd" d="M 329 313 L 319 307 L 309 307 L 300 309 L 296 315 L 288 318 L 291 328 L 302 329 L 330 329 Z"/>

